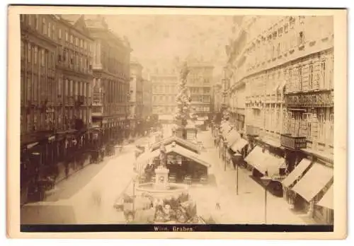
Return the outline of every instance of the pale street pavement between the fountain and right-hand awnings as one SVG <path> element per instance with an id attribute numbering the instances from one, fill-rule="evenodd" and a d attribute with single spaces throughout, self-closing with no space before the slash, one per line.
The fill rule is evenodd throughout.
<path id="1" fill-rule="evenodd" d="M 218 223 L 292 225 L 315 223 L 306 215 L 292 211 L 284 198 L 275 197 L 270 192 L 267 193 L 265 221 L 265 189 L 250 177 L 251 172 L 239 168 L 239 194 L 236 195 L 236 171 L 230 166 L 224 170 L 224 162 L 214 147 L 210 131 L 200 132 L 198 140 L 202 141 L 206 148 L 202 154 L 212 162 L 210 174 L 215 176 L 217 187 L 210 189 L 207 197 L 214 197 L 220 205 L 219 211 L 215 208 L 213 210 L 215 217 L 219 218 Z"/>

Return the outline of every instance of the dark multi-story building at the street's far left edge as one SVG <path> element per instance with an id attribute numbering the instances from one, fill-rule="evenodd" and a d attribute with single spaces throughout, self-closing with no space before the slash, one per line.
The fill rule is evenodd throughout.
<path id="1" fill-rule="evenodd" d="M 27 163 L 22 182 L 59 180 L 75 170 L 70 163 L 87 144 L 91 122 L 91 41 L 80 16 L 72 22 L 21 15 L 21 161 Z"/>

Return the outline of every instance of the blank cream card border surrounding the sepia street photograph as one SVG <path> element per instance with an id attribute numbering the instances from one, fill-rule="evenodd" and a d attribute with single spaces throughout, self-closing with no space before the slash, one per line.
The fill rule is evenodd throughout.
<path id="1" fill-rule="evenodd" d="M 334 19 L 334 216 L 333 233 L 21 233 L 20 232 L 20 18 L 19 14 L 180 14 L 323 15 Z M 11 238 L 198 238 L 198 239 L 343 239 L 347 235 L 347 14 L 346 10 L 109 8 L 10 6 L 8 8 L 7 234 Z M 11 141 L 10 141 L 11 139 Z"/>

